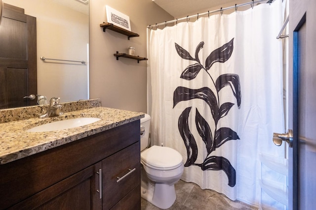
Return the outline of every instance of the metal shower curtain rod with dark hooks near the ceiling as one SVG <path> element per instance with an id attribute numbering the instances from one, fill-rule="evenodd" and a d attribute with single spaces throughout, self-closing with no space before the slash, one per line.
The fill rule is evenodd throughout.
<path id="1" fill-rule="evenodd" d="M 235 6 L 230 6 L 230 7 L 226 7 L 226 8 L 220 8 L 220 9 L 217 9 L 217 10 L 213 10 L 213 11 L 207 11 L 207 12 L 204 12 L 204 13 L 201 13 L 201 14 L 198 14 L 197 15 L 191 15 L 191 16 L 187 16 L 187 17 L 184 17 L 184 18 L 180 18 L 180 19 L 176 19 L 176 20 L 172 20 L 172 21 L 165 21 L 164 23 L 158 23 L 158 24 L 155 24 L 155 25 L 149 25 L 147 26 L 148 29 L 151 29 L 153 27 L 158 27 L 158 26 L 161 26 L 161 25 L 165 25 L 167 26 L 167 24 L 169 23 L 177 23 L 178 21 L 182 21 L 182 20 L 189 20 L 190 18 L 195 18 L 197 17 L 198 19 L 198 16 L 204 16 L 204 15 L 208 15 L 211 14 L 211 13 L 216 13 L 216 12 L 221 12 L 221 14 L 223 14 L 223 11 L 224 10 L 228 10 L 228 9 L 233 9 L 235 8 L 235 11 L 237 11 L 237 8 L 240 7 L 240 6 L 246 6 L 246 5 L 249 5 L 249 4 L 252 4 L 252 8 L 253 8 L 253 4 L 254 3 L 259 3 L 259 2 L 262 2 L 262 1 L 267 1 L 267 0 L 252 0 L 250 2 L 247 2 L 247 3 L 242 3 L 242 4 L 235 4 Z M 273 0 L 268 0 L 268 3 L 272 2 Z M 282 0 L 283 1 L 283 0 Z"/>

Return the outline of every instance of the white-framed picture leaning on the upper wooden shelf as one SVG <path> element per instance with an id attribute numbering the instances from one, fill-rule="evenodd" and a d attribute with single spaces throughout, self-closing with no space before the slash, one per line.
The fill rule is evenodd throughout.
<path id="1" fill-rule="evenodd" d="M 105 8 L 108 23 L 112 23 L 113 25 L 118 26 L 119 28 L 131 31 L 129 16 L 119 12 L 116 9 L 113 9 L 108 5 L 106 5 Z"/>

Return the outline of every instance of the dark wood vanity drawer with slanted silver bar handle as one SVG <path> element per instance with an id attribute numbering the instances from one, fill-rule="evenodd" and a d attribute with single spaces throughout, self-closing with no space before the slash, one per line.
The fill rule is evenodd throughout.
<path id="1" fill-rule="evenodd" d="M 140 186 L 139 142 L 102 160 L 102 175 L 103 210 L 108 210 Z M 133 191 L 140 196 L 140 189 Z"/>

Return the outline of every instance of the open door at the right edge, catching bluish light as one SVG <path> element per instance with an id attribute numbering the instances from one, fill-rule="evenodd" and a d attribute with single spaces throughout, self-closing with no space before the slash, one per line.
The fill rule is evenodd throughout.
<path id="1" fill-rule="evenodd" d="M 316 207 L 316 1 L 289 3 L 289 113 L 293 113 L 289 210 L 312 210 Z"/>

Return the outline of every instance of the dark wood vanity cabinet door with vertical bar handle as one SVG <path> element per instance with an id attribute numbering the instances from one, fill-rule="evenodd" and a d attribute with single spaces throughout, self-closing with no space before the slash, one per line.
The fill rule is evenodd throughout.
<path id="1" fill-rule="evenodd" d="M 98 174 L 101 167 L 101 162 L 96 163 L 14 205 L 9 210 L 101 210 Z"/>

